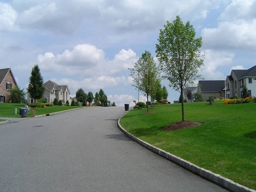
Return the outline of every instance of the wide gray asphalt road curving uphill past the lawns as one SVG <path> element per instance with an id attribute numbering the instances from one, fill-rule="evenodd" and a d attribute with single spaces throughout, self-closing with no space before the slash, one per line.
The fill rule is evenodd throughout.
<path id="1" fill-rule="evenodd" d="M 0 125 L 0 192 L 224 192 L 117 128 L 124 108 Z"/>

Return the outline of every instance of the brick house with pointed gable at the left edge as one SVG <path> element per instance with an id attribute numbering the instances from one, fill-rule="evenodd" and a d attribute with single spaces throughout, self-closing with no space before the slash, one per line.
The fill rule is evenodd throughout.
<path id="1" fill-rule="evenodd" d="M 0 69 L 0 103 L 8 102 L 9 90 L 18 86 L 11 68 Z"/>

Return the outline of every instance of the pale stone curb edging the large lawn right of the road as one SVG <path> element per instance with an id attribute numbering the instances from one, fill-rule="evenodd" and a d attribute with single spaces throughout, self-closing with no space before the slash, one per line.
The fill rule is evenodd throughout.
<path id="1" fill-rule="evenodd" d="M 128 113 L 128 112 L 126 112 L 126 113 Z M 120 122 L 119 122 L 121 118 L 122 118 L 122 116 L 118 119 L 118 122 L 117 122 L 118 128 L 124 134 L 126 134 L 128 137 L 130 137 L 132 140 L 136 141 L 137 143 L 139 143 L 143 147 L 147 148 L 148 150 L 153 151 L 154 153 L 156 153 L 174 163 L 177 163 L 178 165 L 184 167 L 185 169 L 188 169 L 189 171 L 196 173 L 196 174 L 200 175 L 201 177 L 204 177 L 214 183 L 217 183 L 218 185 L 223 186 L 233 192 L 256 192 L 256 190 L 253 190 L 246 186 L 240 185 L 239 183 L 236 183 L 233 180 L 230 180 L 226 177 L 222 177 L 221 175 L 215 174 L 207 169 L 198 167 L 195 164 L 190 163 L 189 161 L 183 160 L 180 157 L 177 157 L 177 156 L 170 154 L 166 151 L 163 151 L 162 149 L 157 148 L 149 143 L 146 143 L 143 140 L 140 140 L 139 138 L 135 137 L 134 135 L 130 134 L 128 131 L 125 131 L 124 128 L 122 128 L 122 126 L 120 125 Z"/>

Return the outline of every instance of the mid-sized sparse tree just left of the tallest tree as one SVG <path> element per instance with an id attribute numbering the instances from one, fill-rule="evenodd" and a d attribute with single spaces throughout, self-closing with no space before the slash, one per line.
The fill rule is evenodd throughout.
<path id="1" fill-rule="evenodd" d="M 139 72 L 139 76 L 138 76 Z M 157 67 L 154 58 L 151 53 L 145 51 L 138 61 L 134 64 L 134 69 L 131 69 L 130 76 L 133 78 L 134 84 L 132 86 L 139 88 L 144 95 L 150 96 L 152 90 L 155 88 L 155 82 L 157 81 Z M 147 105 L 148 112 L 148 105 Z"/>

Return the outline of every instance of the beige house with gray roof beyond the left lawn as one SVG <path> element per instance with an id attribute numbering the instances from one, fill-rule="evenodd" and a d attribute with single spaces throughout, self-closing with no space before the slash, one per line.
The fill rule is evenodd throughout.
<path id="1" fill-rule="evenodd" d="M 44 99 L 47 103 L 52 103 L 55 98 L 62 100 L 63 104 L 67 101 L 71 103 L 70 90 L 67 85 L 58 85 L 53 81 L 47 81 L 44 84 Z M 29 96 L 28 93 L 28 103 L 34 103 L 34 99 Z"/>

